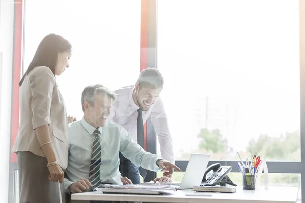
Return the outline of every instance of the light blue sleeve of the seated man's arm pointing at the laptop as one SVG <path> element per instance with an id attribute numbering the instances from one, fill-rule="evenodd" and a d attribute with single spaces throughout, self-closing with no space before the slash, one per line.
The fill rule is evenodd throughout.
<path id="1" fill-rule="evenodd" d="M 119 126 L 120 133 L 120 152 L 129 159 L 135 166 L 142 166 L 150 171 L 159 171 L 156 165 L 159 156 L 146 152 L 140 145 L 134 142 L 129 133 Z"/>

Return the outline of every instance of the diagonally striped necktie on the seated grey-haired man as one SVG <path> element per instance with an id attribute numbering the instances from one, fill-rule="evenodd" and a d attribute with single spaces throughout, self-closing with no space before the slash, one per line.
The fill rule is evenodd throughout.
<path id="1" fill-rule="evenodd" d="M 94 132 L 94 140 L 92 145 L 92 158 L 89 172 L 89 181 L 92 184 L 92 188 L 98 188 L 101 186 L 100 180 L 100 166 L 101 166 L 101 145 L 99 141 L 99 135 L 101 134 L 98 129 Z"/>

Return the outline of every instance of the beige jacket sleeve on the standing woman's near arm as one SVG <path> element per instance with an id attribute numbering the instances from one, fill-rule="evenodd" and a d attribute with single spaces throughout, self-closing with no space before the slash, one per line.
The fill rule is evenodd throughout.
<path id="1" fill-rule="evenodd" d="M 48 67 L 36 67 L 35 69 L 32 70 L 34 72 L 29 78 L 32 92 L 33 130 L 51 123 L 50 109 L 56 84 L 54 74 Z"/>

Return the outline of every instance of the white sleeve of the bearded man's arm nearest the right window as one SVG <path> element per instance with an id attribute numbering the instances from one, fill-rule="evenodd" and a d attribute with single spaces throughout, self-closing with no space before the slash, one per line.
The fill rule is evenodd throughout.
<path id="1" fill-rule="evenodd" d="M 156 100 L 151 111 L 151 122 L 158 136 L 162 158 L 175 164 L 173 140 L 169 132 L 164 106 L 160 98 Z"/>

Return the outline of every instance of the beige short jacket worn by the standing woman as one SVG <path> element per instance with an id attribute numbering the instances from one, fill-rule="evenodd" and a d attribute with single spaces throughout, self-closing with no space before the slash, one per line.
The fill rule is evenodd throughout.
<path id="1" fill-rule="evenodd" d="M 67 168 L 67 113 L 54 74 L 45 66 L 35 67 L 19 91 L 20 123 L 13 152 L 30 151 L 45 157 L 35 128 L 49 125 L 50 137 L 60 167 Z"/>

